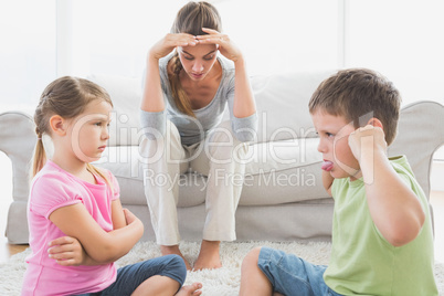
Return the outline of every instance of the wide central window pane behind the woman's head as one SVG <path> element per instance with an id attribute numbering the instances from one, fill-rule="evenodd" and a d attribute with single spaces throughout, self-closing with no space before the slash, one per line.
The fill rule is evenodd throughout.
<path id="1" fill-rule="evenodd" d="M 83 51 L 75 53 L 73 71 L 140 76 L 148 49 L 170 31 L 184 2 L 73 1 L 74 42 L 86 44 L 83 50 L 73 44 Z M 245 54 L 251 75 L 337 67 L 335 1 L 236 0 L 214 6 L 224 32 Z"/>

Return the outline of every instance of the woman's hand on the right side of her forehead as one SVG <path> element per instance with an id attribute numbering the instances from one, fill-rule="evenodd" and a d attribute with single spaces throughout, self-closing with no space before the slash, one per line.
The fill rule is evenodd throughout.
<path id="1" fill-rule="evenodd" d="M 209 34 L 197 36 L 199 43 L 218 44 L 221 54 L 234 63 L 239 60 L 242 60 L 241 50 L 234 44 L 233 41 L 230 40 L 228 35 L 221 34 L 218 31 L 208 28 L 202 28 L 202 31 Z"/>

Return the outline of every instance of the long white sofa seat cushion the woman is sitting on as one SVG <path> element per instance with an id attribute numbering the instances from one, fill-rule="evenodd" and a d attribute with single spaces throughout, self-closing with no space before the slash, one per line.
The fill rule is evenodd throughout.
<path id="1" fill-rule="evenodd" d="M 284 204 L 328 198 L 321 186 L 321 157 L 317 138 L 252 144 L 240 205 Z M 138 146 L 108 147 L 95 165 L 112 170 L 124 204 L 146 204 L 144 182 L 166 180 L 149 173 Z M 204 203 L 207 177 L 187 172 L 179 179 L 178 207 Z M 224 181 L 222 178 L 220 181 Z M 276 192 L 278 192 L 276 194 Z"/>

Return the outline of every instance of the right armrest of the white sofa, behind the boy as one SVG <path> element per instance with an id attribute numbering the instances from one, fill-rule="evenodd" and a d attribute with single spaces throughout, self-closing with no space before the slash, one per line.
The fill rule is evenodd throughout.
<path id="1" fill-rule="evenodd" d="M 425 192 L 430 197 L 433 154 L 444 145 L 444 106 L 422 101 L 401 109 L 398 136 L 389 147 L 389 156 L 405 155 Z"/>

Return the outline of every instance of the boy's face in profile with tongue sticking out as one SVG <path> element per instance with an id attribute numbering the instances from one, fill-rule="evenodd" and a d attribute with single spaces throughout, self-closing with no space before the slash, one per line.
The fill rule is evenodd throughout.
<path id="1" fill-rule="evenodd" d="M 348 145 L 348 137 L 356 129 L 352 123 L 323 109 L 315 110 L 311 119 L 320 139 L 318 151 L 323 154 L 325 161 L 323 168 L 329 171 L 332 178 L 359 178 L 359 162 Z"/>

